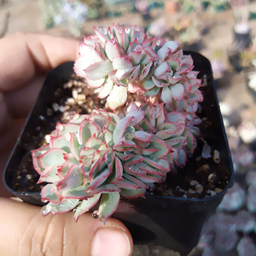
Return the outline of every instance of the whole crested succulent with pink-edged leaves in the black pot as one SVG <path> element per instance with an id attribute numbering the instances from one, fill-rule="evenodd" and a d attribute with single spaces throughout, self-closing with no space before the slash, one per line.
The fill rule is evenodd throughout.
<path id="1" fill-rule="evenodd" d="M 185 166 L 200 133 L 202 96 L 193 60 L 177 42 L 150 38 L 137 26 L 95 31 L 80 44 L 74 70 L 107 97 L 106 108 L 58 123 L 49 143 L 32 150 L 32 160 L 38 183 L 48 183 L 43 215 L 73 210 L 78 219 L 99 202 L 94 216 L 105 223 L 120 195 L 144 197 L 172 167 Z M 141 102 L 128 100 L 131 94 Z M 123 117 L 107 112 L 122 105 Z"/>

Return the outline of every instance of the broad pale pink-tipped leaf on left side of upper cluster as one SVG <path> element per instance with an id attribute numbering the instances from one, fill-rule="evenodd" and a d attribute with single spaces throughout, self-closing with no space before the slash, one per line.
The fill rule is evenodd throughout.
<path id="1" fill-rule="evenodd" d="M 89 67 L 84 69 L 84 72 L 88 79 L 99 80 L 108 76 L 108 74 L 113 70 L 113 66 L 109 61 L 96 62 Z"/>

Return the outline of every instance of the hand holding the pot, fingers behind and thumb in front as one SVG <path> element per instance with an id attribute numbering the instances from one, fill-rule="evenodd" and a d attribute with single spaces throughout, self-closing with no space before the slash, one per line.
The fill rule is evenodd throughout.
<path id="1" fill-rule="evenodd" d="M 44 81 L 44 74 L 76 59 L 78 42 L 15 34 L 0 40 L 0 196 L 2 171 Z M 102 224 L 84 213 L 75 223 L 67 212 L 43 218 L 40 207 L 0 198 L 0 255 L 131 255 L 132 238 L 114 218 Z"/>

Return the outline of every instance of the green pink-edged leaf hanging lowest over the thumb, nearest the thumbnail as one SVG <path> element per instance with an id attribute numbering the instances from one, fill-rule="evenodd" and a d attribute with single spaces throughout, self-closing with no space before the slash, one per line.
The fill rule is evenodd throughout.
<path id="1" fill-rule="evenodd" d="M 120 195 L 119 192 L 113 192 L 102 195 L 99 207 L 99 218 L 103 223 L 115 212 L 119 205 Z"/>

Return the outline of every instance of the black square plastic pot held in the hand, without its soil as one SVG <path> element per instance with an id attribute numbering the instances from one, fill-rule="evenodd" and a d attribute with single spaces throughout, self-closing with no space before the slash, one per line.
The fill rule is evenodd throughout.
<path id="1" fill-rule="evenodd" d="M 188 54 L 188 52 L 186 53 Z M 212 79 L 212 68 L 210 62 L 198 53 L 189 52 L 195 62 L 195 70 L 201 72 L 205 77 Z M 38 132 L 36 127 L 44 125 L 46 120 L 38 119 L 38 115 L 45 116 L 49 108 L 51 97 L 55 94 L 60 83 L 70 79 L 73 74 L 73 63 L 69 62 L 57 67 L 45 80 L 44 86 L 38 96 L 38 101 L 27 119 L 26 127 L 9 159 L 4 172 L 5 186 L 23 201 L 35 205 L 42 205 L 40 193 L 15 191 L 15 170 L 20 168 L 21 161 L 27 153 L 29 145 L 29 134 L 32 139 Z M 205 139 L 212 148 L 217 149 L 220 154 L 220 163 L 216 166 L 220 175 L 228 173 L 226 187 L 217 195 L 205 199 L 185 199 L 174 196 L 146 195 L 146 199 L 134 200 L 123 199 L 114 218 L 119 218 L 131 231 L 135 244 L 154 244 L 172 248 L 187 255 L 196 246 L 203 224 L 233 184 L 233 166 L 230 159 L 230 149 L 224 132 L 222 117 L 218 108 L 218 99 L 215 88 L 207 85 L 203 88 L 205 101 L 201 103 L 203 116 L 207 117 L 211 126 L 202 127 Z M 208 130 L 207 130 L 208 129 Z M 32 149 L 32 148 L 31 148 Z M 212 161 L 213 162 L 213 161 Z M 198 163 L 191 158 L 185 168 L 197 170 Z M 213 163 L 214 165 L 214 163 Z"/>

